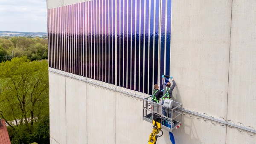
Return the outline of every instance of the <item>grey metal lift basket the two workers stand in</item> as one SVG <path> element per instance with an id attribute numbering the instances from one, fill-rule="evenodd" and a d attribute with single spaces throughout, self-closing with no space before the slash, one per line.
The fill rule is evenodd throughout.
<path id="1" fill-rule="evenodd" d="M 159 117 L 166 118 L 165 121 L 161 122 L 161 127 L 169 132 L 175 131 L 181 126 L 182 122 L 182 104 L 173 101 L 172 108 L 166 108 L 169 117 L 163 115 L 162 112 L 162 101 L 155 103 L 151 101 L 152 96 L 143 99 L 143 120 L 153 123 L 153 114 Z M 167 115 L 168 116 L 168 115 Z"/>

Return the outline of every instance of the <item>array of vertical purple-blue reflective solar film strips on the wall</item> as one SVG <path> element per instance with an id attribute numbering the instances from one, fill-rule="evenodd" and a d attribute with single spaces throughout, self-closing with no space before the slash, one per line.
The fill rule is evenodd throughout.
<path id="1" fill-rule="evenodd" d="M 51 68 L 147 94 L 170 75 L 172 0 L 90 0 L 47 14 Z"/>

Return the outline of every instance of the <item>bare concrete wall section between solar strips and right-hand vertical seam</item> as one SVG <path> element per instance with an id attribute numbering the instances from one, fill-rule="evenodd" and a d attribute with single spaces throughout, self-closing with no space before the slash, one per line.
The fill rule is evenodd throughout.
<path id="1" fill-rule="evenodd" d="M 232 0 L 173 0 L 172 3 L 171 74 L 177 84 L 174 100 L 191 111 L 224 119 L 227 119 L 231 6 Z M 178 144 L 225 144 L 225 126 L 195 117 L 183 116 L 182 127 L 174 133 Z"/>

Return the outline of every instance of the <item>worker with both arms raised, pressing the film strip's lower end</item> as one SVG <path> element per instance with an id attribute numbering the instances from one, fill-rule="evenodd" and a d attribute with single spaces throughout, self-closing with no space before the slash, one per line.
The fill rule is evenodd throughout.
<path id="1" fill-rule="evenodd" d="M 162 97 L 162 104 L 164 103 L 164 100 L 165 99 L 172 99 L 172 91 L 173 89 L 175 88 L 175 81 L 174 79 L 172 78 L 172 76 L 170 77 L 172 79 L 172 86 L 171 86 L 171 83 L 170 82 L 167 82 L 167 84 L 165 85 L 164 84 L 164 75 L 162 75 L 163 77 L 163 80 L 162 80 L 162 84 L 163 84 L 163 97 Z M 167 116 L 167 113 L 165 112 L 165 109 L 163 107 L 162 109 L 162 112 L 163 112 L 163 115 Z"/>

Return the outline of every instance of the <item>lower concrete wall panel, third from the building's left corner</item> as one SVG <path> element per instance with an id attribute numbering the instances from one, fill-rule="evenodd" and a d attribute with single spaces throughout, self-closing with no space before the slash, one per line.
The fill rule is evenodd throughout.
<path id="1" fill-rule="evenodd" d="M 88 144 L 115 144 L 116 93 L 88 84 L 87 95 Z"/>

